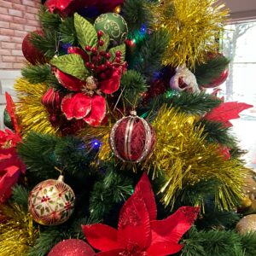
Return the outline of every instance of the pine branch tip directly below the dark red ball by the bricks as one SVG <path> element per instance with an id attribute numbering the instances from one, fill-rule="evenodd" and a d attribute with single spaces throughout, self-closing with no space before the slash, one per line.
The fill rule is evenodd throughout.
<path id="1" fill-rule="evenodd" d="M 26 66 L 21 70 L 22 76 L 31 84 L 43 83 L 51 75 L 51 67 L 47 64 Z"/>

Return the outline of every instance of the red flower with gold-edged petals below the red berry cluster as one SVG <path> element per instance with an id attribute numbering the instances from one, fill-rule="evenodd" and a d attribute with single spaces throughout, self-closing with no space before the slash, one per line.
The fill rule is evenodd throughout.
<path id="1" fill-rule="evenodd" d="M 84 82 L 58 69 L 55 71 L 55 76 L 67 90 L 73 91 L 61 102 L 61 110 L 67 119 L 84 119 L 88 125 L 101 125 L 107 112 L 106 100 L 102 93 L 112 94 L 119 90 L 120 69 L 114 70 L 110 78 L 99 82 L 93 77 L 89 77 Z"/>

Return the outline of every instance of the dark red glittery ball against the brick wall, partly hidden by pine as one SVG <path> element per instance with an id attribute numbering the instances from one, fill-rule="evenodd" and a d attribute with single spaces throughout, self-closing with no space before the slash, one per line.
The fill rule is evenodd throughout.
<path id="1" fill-rule="evenodd" d="M 44 35 L 42 30 L 36 30 L 33 33 L 37 33 L 40 36 Z M 28 33 L 22 42 L 22 52 L 26 61 L 29 61 L 32 65 L 38 63 L 46 63 L 44 55 L 31 43 L 30 38 L 32 37 L 31 33 Z"/>

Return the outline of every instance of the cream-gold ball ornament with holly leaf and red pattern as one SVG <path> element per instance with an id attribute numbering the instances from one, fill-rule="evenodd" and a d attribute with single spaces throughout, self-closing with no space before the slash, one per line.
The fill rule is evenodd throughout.
<path id="1" fill-rule="evenodd" d="M 75 195 L 63 181 L 48 179 L 32 189 L 28 197 L 28 210 L 34 221 L 42 225 L 58 225 L 73 213 Z"/>

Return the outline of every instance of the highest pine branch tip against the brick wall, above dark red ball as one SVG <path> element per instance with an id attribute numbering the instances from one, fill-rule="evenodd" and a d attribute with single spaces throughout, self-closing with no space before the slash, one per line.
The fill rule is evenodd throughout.
<path id="1" fill-rule="evenodd" d="M 44 30 L 53 29 L 57 31 L 61 25 L 60 15 L 51 14 L 44 7 L 41 7 L 38 17 L 44 27 Z"/>

